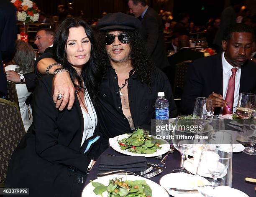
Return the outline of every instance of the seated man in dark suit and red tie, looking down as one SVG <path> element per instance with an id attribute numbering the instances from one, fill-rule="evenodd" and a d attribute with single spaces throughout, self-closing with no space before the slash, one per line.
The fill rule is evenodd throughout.
<path id="1" fill-rule="evenodd" d="M 182 96 L 184 113 L 193 113 L 197 97 L 210 97 L 215 114 L 231 114 L 239 93 L 256 93 L 256 64 L 251 61 L 254 39 L 251 27 L 237 23 L 225 33 L 223 53 L 191 64 Z"/>

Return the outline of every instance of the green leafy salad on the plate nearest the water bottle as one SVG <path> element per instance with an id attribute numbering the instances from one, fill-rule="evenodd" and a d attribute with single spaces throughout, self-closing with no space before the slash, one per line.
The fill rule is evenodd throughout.
<path id="1" fill-rule="evenodd" d="M 121 150 L 127 150 L 132 153 L 152 154 L 158 149 L 161 149 L 161 144 L 164 142 L 148 136 L 149 132 L 143 129 L 138 129 L 127 138 L 118 140 Z"/>

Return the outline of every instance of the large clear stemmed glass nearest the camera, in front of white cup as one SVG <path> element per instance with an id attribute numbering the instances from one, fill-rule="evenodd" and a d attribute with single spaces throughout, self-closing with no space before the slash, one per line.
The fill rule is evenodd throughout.
<path id="1" fill-rule="evenodd" d="M 215 136 L 216 144 L 205 146 L 197 166 L 197 190 L 205 197 L 222 196 L 218 193 L 218 187 L 232 186 L 231 134 L 216 131 Z M 222 146 L 223 143 L 225 146 Z"/>

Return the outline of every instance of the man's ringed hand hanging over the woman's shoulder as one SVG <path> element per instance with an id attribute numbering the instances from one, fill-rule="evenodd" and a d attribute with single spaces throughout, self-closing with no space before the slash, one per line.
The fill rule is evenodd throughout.
<path id="1" fill-rule="evenodd" d="M 71 109 L 74 104 L 75 89 L 69 73 L 57 73 L 53 78 L 52 86 L 54 92 L 53 100 L 54 103 L 56 103 L 56 108 L 59 108 L 59 111 L 62 111 L 67 103 L 69 103 L 67 109 Z M 63 95 L 63 98 L 60 100 L 57 99 L 59 93 Z"/>

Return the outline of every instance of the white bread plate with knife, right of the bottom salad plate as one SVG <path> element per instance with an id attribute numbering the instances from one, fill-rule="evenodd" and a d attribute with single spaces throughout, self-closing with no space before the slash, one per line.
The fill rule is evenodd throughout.
<path id="1" fill-rule="evenodd" d="M 200 177 L 200 180 L 204 184 L 210 184 L 207 179 Z M 166 191 L 174 196 L 174 197 L 184 197 L 184 196 L 189 196 L 189 197 L 202 197 L 199 193 L 179 193 L 175 192 L 173 190 L 169 190 L 169 188 L 174 187 L 178 189 L 197 189 L 197 181 L 196 177 L 193 174 L 186 174 L 186 173 L 171 173 L 171 174 L 166 174 L 164 175 L 160 181 L 159 184 L 166 189 Z M 160 197 L 160 195 L 159 195 Z"/>

